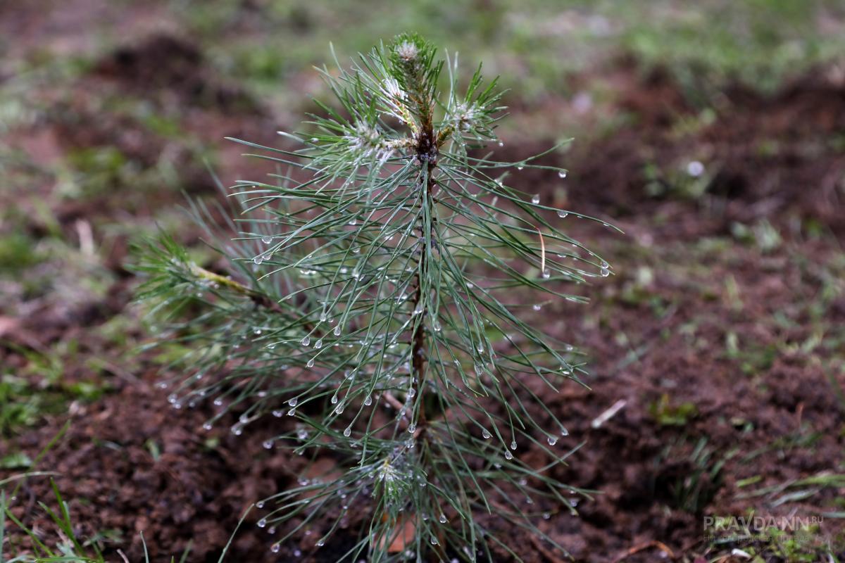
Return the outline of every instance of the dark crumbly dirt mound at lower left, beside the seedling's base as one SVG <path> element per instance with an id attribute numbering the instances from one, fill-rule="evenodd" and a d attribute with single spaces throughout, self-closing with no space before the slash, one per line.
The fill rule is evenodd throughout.
<path id="1" fill-rule="evenodd" d="M 84 409 L 41 467 L 61 474 L 58 485 L 83 536 L 120 530 L 123 551 L 134 561 L 144 560 L 139 533 L 154 561 L 169 560 L 193 539 L 189 560 L 217 560 L 244 510 L 285 487 L 297 460 L 264 450 L 266 429 L 268 436 L 251 430 L 236 445 L 224 422 L 220 430 L 204 431 L 208 412 L 163 409 L 161 395 L 146 385 L 124 386 Z M 30 435 L 20 445 L 37 449 L 55 430 Z M 45 479 L 31 479 L 19 497 L 46 501 L 48 486 Z M 36 528 L 52 529 L 37 506 L 25 502 L 15 512 Z M 267 533 L 254 526 L 257 518 L 238 533 L 232 560 L 277 560 L 270 557 Z"/>

